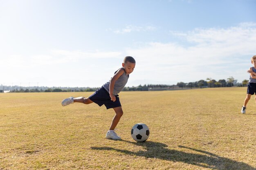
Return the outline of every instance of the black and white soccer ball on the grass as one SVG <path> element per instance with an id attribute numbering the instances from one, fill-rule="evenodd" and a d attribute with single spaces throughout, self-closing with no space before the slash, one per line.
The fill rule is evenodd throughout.
<path id="1" fill-rule="evenodd" d="M 149 137 L 149 128 L 146 124 L 135 124 L 131 130 L 132 138 L 137 142 L 144 142 Z"/>

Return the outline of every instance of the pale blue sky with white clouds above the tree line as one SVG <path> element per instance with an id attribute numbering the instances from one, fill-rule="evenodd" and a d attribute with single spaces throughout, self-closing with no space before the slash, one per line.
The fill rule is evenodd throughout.
<path id="1" fill-rule="evenodd" d="M 0 0 L 0 84 L 99 87 L 248 79 L 256 0 Z"/>

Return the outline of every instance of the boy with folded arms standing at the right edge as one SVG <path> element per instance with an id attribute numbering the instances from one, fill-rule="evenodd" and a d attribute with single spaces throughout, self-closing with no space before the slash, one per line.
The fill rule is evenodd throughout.
<path id="1" fill-rule="evenodd" d="M 243 114 L 245 114 L 246 105 L 249 102 L 249 99 L 251 98 L 251 96 L 254 95 L 254 93 L 255 93 L 255 100 L 256 100 L 256 55 L 252 57 L 251 62 L 253 64 L 253 67 L 249 68 L 249 70 L 247 71 L 247 73 L 250 73 L 250 77 L 249 77 L 249 84 L 247 87 L 247 95 L 241 110 L 241 113 Z"/>

